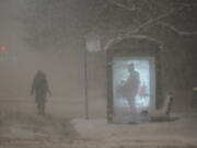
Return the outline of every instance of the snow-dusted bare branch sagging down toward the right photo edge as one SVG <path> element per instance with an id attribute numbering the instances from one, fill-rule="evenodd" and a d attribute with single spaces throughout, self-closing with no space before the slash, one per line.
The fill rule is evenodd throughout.
<path id="1" fill-rule="evenodd" d="M 173 26 L 172 24 L 165 22 L 158 22 L 157 24 L 162 25 L 164 27 L 169 27 L 170 30 L 174 31 L 178 35 L 197 35 L 197 31 L 188 32 L 188 31 L 181 31 L 177 27 Z"/>

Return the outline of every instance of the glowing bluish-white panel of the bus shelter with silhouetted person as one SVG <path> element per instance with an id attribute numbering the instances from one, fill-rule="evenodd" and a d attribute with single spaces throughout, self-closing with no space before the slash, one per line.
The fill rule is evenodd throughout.
<path id="1" fill-rule="evenodd" d="M 141 122 L 141 113 L 154 101 L 152 57 L 115 57 L 113 61 L 114 123 Z"/>

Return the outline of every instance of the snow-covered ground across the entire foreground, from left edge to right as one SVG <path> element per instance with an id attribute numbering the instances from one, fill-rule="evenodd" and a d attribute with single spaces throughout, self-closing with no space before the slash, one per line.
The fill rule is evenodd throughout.
<path id="1" fill-rule="evenodd" d="M 194 113 L 175 114 L 179 118 L 172 122 L 141 124 L 32 116 L 1 124 L 0 148 L 197 148 Z"/>

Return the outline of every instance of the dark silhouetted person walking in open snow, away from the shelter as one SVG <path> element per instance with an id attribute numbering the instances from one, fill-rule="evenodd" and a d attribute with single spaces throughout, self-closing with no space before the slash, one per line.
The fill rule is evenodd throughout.
<path id="1" fill-rule="evenodd" d="M 42 70 L 38 70 L 34 77 L 31 95 L 33 95 L 34 93 L 38 114 L 45 115 L 46 96 L 47 93 L 51 95 L 51 92 L 48 87 L 46 75 Z"/>

